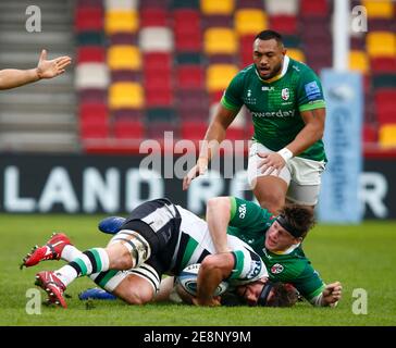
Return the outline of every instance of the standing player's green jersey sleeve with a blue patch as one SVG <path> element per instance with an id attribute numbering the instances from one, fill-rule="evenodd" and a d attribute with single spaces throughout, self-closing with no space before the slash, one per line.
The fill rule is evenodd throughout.
<path id="1" fill-rule="evenodd" d="M 301 72 L 297 89 L 299 111 L 325 107 L 323 89 L 318 75 L 308 66 Z"/>

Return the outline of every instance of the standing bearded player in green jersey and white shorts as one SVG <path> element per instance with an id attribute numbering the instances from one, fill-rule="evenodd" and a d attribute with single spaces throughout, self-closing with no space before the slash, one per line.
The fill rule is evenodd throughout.
<path id="1" fill-rule="evenodd" d="M 321 83 L 309 66 L 286 54 L 276 32 L 257 35 L 252 57 L 253 64 L 242 70 L 226 88 L 183 189 L 206 172 L 227 127 L 245 105 L 255 127 L 248 179 L 260 206 L 272 213 L 286 199 L 314 207 L 326 162 Z"/>

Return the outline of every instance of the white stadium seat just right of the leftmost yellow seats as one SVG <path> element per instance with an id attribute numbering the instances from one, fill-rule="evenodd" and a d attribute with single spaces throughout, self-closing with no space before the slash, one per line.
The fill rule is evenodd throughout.
<path id="1" fill-rule="evenodd" d="M 143 28 L 139 32 L 139 47 L 143 52 L 172 52 L 173 32 L 160 26 Z"/>

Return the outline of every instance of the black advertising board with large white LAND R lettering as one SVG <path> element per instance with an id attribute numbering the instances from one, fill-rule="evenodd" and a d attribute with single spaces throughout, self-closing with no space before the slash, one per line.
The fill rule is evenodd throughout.
<path id="1" fill-rule="evenodd" d="M 203 214 L 205 202 L 213 196 L 252 199 L 246 187 L 244 157 L 224 156 L 216 169 L 194 181 L 187 191 L 182 190 L 183 171 L 186 161 L 194 163 L 195 156 L 157 159 L 160 162 L 154 160 L 148 165 L 148 156 L 139 154 L 0 156 L 0 212 L 115 214 L 165 196 Z M 224 163 L 232 163 L 232 170 L 224 171 Z M 174 177 L 175 171 L 178 177 Z M 395 177 L 394 158 L 366 159 L 359 178 L 364 219 L 396 219 Z"/>

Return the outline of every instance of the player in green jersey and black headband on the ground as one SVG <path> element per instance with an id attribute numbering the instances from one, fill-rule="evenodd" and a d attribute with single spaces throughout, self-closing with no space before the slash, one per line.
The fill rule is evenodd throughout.
<path id="1" fill-rule="evenodd" d="M 261 257 L 271 281 L 292 284 L 317 307 L 341 299 L 341 283 L 325 285 L 301 248 L 314 224 L 312 210 L 286 204 L 275 216 L 251 201 L 216 197 L 208 201 L 207 223 L 216 252 L 228 252 L 226 236 L 234 235 Z"/>

